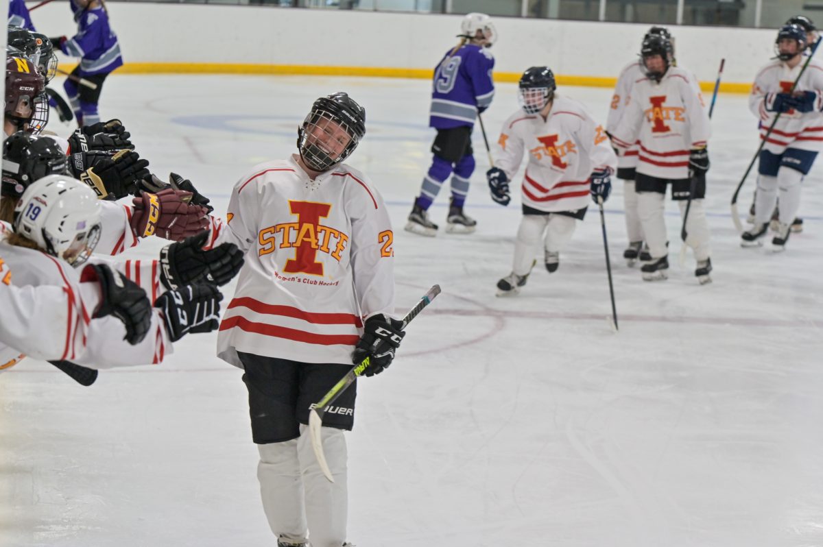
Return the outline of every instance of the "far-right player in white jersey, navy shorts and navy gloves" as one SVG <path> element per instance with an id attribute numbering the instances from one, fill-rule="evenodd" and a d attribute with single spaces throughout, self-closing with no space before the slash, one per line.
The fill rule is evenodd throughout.
<path id="1" fill-rule="evenodd" d="M 743 247 L 763 244 L 779 199 L 772 248 L 785 248 L 800 207 L 802 180 L 823 147 L 823 63 L 811 58 L 788 93 L 806 60 L 807 40 L 800 25 L 784 25 L 775 40 L 777 58 L 760 69 L 751 88 L 749 109 L 760 120 L 761 140 L 775 116 L 780 118 L 760 151 L 754 224 L 742 234 Z"/>

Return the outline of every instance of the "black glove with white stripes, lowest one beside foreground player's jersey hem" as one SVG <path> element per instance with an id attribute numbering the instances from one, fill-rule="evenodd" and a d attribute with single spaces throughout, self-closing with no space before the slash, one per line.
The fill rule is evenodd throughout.
<path id="1" fill-rule="evenodd" d="M 220 301 L 223 295 L 215 285 L 201 283 L 168 290 L 155 300 L 171 341 L 188 332 L 211 332 L 220 327 Z"/>

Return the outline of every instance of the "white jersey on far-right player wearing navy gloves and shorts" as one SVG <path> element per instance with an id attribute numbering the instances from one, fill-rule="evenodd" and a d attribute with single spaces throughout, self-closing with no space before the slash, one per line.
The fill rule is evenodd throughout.
<path id="1" fill-rule="evenodd" d="M 788 93 L 792 89 L 802 66 L 803 63 L 800 63 L 797 67 L 789 68 L 786 63 L 774 59 L 757 72 L 749 95 L 749 109 L 760 120 L 760 140 L 765 138 L 777 115 L 766 108 L 774 104 L 775 95 Z M 773 154 L 782 154 L 788 147 L 814 152 L 823 150 L 823 63 L 811 59 L 806 72 L 803 72 L 797 82 L 795 91 L 815 91 L 817 97 L 814 110 L 805 114 L 797 110 L 780 114 L 764 146 L 765 150 Z"/>

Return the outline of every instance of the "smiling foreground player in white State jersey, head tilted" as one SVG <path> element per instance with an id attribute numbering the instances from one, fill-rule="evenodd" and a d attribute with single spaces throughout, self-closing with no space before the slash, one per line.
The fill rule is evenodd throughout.
<path id="1" fill-rule="evenodd" d="M 323 417 L 334 482 L 314 457 L 309 405 L 367 355 L 391 363 L 403 336 L 394 311 L 393 231 L 369 178 L 342 163 L 365 135 L 346 93 L 314 101 L 298 153 L 257 165 L 231 192 L 216 241 L 246 251 L 218 355 L 244 369 L 263 509 L 278 545 L 346 541 L 346 440 L 355 389 Z M 352 386 L 354 387 L 354 386 Z"/>

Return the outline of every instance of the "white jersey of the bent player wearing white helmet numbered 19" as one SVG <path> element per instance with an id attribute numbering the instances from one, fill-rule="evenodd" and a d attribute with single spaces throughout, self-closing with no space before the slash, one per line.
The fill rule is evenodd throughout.
<path id="1" fill-rule="evenodd" d="M 0 257 L 11 272 L 8 281 L 18 289 L 3 294 L 0 364 L 30 355 L 109 369 L 158 364 L 172 352 L 159 309 L 152 313 L 146 338 L 130 345 L 123 340 L 126 330 L 119 319 L 91 318 L 100 304 L 100 288 L 96 282 L 81 281 L 81 271 L 5 241 L 0 241 Z"/>

